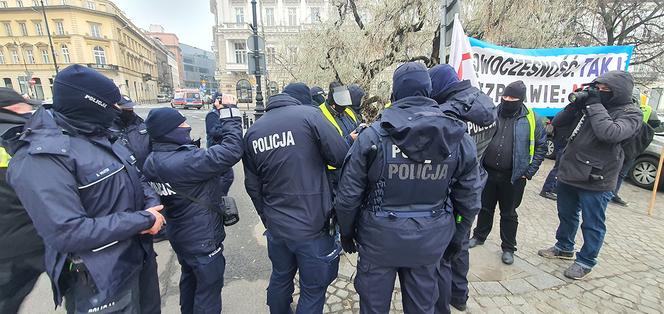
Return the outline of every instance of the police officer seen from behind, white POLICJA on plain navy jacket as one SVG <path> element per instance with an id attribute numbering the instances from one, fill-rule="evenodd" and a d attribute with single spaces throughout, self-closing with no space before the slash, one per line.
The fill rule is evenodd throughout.
<path id="1" fill-rule="evenodd" d="M 329 233 L 332 195 L 325 165 L 340 167 L 348 146 L 317 108 L 286 94 L 270 97 L 244 145 L 245 186 L 267 229 L 272 261 L 270 312 L 291 313 L 299 271 L 297 313 L 322 313 L 341 251 Z"/>

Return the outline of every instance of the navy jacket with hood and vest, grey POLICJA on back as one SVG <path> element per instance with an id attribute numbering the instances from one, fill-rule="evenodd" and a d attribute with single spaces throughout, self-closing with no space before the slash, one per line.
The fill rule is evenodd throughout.
<path id="1" fill-rule="evenodd" d="M 464 217 L 481 207 L 478 165 L 463 121 L 427 97 L 395 102 L 346 157 L 334 206 L 341 234 L 372 264 L 438 263 L 455 230 L 448 201 Z"/>

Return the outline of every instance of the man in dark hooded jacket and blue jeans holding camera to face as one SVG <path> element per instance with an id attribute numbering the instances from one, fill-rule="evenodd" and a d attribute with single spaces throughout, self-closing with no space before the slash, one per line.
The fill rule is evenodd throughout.
<path id="1" fill-rule="evenodd" d="M 624 71 L 610 71 L 570 95 L 571 103 L 553 119 L 555 127 L 566 126 L 583 114 L 558 169 L 558 219 L 556 244 L 538 252 L 542 257 L 574 259 L 574 239 L 583 217 L 583 247 L 565 277 L 583 279 L 597 264 L 606 233 L 606 206 L 616 187 L 623 164 L 621 142 L 641 126 L 642 114 L 632 102 L 634 79 Z"/>

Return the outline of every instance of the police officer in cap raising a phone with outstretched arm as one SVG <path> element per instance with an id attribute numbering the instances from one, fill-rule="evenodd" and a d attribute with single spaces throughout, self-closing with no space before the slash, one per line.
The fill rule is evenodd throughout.
<path id="1" fill-rule="evenodd" d="M 219 174 L 242 157 L 242 121 L 236 106 L 219 110 L 221 142 L 191 145 L 191 127 L 172 108 L 153 109 L 146 124 L 153 140 L 143 173 L 161 196 L 168 239 L 181 265 L 180 311 L 220 313 L 226 237 L 219 207 Z"/>

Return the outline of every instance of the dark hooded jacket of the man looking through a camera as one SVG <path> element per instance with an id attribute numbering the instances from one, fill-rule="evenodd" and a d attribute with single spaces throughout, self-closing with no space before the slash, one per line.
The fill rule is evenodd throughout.
<path id="1" fill-rule="evenodd" d="M 611 88 L 610 104 L 585 104 L 581 109 L 568 105 L 553 119 L 554 127 L 564 127 L 577 121 L 579 110 L 583 114 L 562 154 L 558 180 L 581 189 L 613 191 L 625 158 L 621 143 L 636 134 L 643 115 L 632 102 L 634 81 L 629 73 L 607 72 L 595 82 Z"/>

